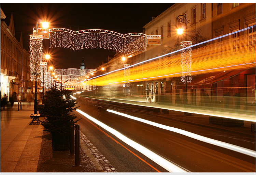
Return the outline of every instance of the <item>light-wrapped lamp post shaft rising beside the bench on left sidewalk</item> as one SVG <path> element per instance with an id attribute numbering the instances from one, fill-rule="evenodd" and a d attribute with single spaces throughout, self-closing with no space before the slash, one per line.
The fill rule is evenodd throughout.
<path id="1" fill-rule="evenodd" d="M 37 113 L 37 80 L 40 80 L 43 59 L 43 35 L 30 35 L 30 77 L 35 81 L 34 114 Z"/>

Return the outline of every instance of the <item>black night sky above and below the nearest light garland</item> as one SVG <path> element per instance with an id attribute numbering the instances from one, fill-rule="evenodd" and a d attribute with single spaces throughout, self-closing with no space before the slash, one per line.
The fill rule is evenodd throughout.
<path id="1" fill-rule="evenodd" d="M 126 34 L 142 32 L 142 27 L 174 3 L 1 3 L 6 14 L 13 13 L 15 30 L 22 31 L 23 47 L 29 51 L 29 35 L 32 34 L 36 19 L 40 19 L 44 7 L 51 28 L 67 28 L 73 31 L 105 29 Z M 45 10 L 45 11 L 47 11 Z M 41 27 L 41 26 L 39 26 Z M 94 69 L 106 61 L 108 49 L 49 48 L 49 39 L 43 41 L 43 52 L 51 55 L 48 65 L 54 68 L 80 68 L 84 59 L 85 68 Z"/>

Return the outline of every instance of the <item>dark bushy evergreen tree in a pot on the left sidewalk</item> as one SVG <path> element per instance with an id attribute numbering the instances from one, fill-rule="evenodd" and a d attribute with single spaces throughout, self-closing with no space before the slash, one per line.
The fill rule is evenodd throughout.
<path id="1" fill-rule="evenodd" d="M 77 102 L 71 99 L 70 90 L 52 89 L 45 94 L 42 122 L 44 130 L 52 134 L 53 150 L 70 149 L 70 121 L 76 118 L 71 114 Z M 77 121 L 76 121 L 77 122 Z"/>

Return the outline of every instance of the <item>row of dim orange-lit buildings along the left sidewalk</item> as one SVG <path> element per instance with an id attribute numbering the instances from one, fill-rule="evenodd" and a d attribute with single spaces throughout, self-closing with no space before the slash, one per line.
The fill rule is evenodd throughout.
<path id="1" fill-rule="evenodd" d="M 14 30 L 13 15 L 1 9 L 1 98 L 32 89 L 29 52 L 23 48 L 21 32 Z"/>

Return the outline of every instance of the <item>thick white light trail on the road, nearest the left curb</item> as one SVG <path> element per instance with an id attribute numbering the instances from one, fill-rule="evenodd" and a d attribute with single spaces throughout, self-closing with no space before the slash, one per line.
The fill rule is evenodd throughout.
<path id="1" fill-rule="evenodd" d="M 105 130 L 111 132 L 112 134 L 114 134 L 117 138 L 119 138 L 120 140 L 122 140 L 123 142 L 125 142 L 126 144 L 130 145 L 131 147 L 133 147 L 134 149 L 138 150 L 139 152 L 141 152 L 142 154 L 144 154 L 146 157 L 150 158 L 151 160 L 153 160 L 154 162 L 156 162 L 157 164 L 159 164 L 160 166 L 162 166 L 164 169 L 166 169 L 169 172 L 188 172 L 187 170 L 181 168 L 180 166 L 170 162 L 169 160 L 159 156 L 158 154 L 152 152 L 151 150 L 147 149 L 146 147 L 138 144 L 137 142 L 134 142 L 133 140 L 125 137 L 123 134 L 121 134 L 120 132 L 116 131 L 115 129 L 105 125 L 104 123 L 96 120 L 95 118 L 89 116 L 88 114 L 84 113 L 83 111 L 77 109 L 77 112 L 79 112 L 80 114 L 84 115 L 86 118 L 88 118 L 89 120 L 93 121 L 94 123 L 96 123 L 97 125 L 101 126 L 102 128 L 104 128 Z"/>

